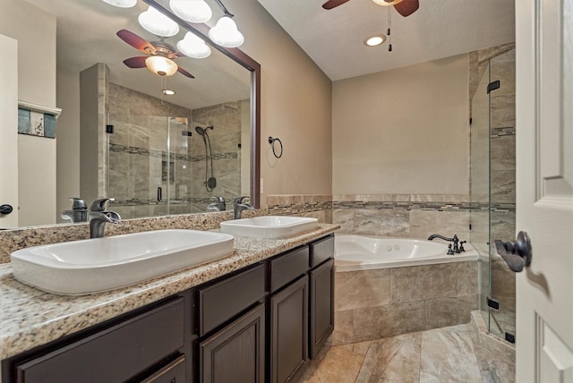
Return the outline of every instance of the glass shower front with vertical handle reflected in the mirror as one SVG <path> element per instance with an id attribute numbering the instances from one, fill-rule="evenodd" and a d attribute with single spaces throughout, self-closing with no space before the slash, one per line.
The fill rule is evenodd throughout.
<path id="1" fill-rule="evenodd" d="M 192 166 L 185 117 L 110 115 L 107 195 L 123 218 L 189 212 Z"/>

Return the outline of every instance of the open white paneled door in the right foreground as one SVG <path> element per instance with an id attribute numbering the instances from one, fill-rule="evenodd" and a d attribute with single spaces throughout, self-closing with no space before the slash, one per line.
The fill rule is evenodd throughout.
<path id="1" fill-rule="evenodd" d="M 573 1 L 516 1 L 517 382 L 573 383 Z"/>

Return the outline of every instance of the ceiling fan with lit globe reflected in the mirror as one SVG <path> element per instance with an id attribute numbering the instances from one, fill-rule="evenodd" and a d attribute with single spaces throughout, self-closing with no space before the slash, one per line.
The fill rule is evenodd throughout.
<path id="1" fill-rule="evenodd" d="M 124 64 L 126 66 L 130 68 L 147 67 L 151 72 L 159 76 L 172 76 L 175 72 L 180 72 L 190 79 L 195 78 L 190 72 L 185 71 L 181 66 L 175 64 L 173 60 L 183 56 L 183 54 L 177 52 L 175 47 L 167 44 L 163 38 L 159 41 L 149 42 L 129 30 L 118 30 L 116 35 L 130 46 L 147 55 L 125 59 Z"/>

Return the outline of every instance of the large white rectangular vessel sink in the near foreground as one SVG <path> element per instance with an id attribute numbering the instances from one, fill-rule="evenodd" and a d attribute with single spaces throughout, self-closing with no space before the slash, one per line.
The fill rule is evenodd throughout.
<path id="1" fill-rule="evenodd" d="M 13 275 L 56 294 L 91 294 L 217 260 L 233 252 L 233 236 L 158 230 L 34 246 L 10 255 Z"/>

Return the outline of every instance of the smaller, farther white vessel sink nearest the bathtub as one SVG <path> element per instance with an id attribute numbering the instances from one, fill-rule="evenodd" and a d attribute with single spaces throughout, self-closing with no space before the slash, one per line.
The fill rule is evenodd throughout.
<path id="1" fill-rule="evenodd" d="M 307 217 L 263 216 L 221 222 L 223 233 L 256 238 L 281 239 L 311 231 L 318 219 Z"/>

